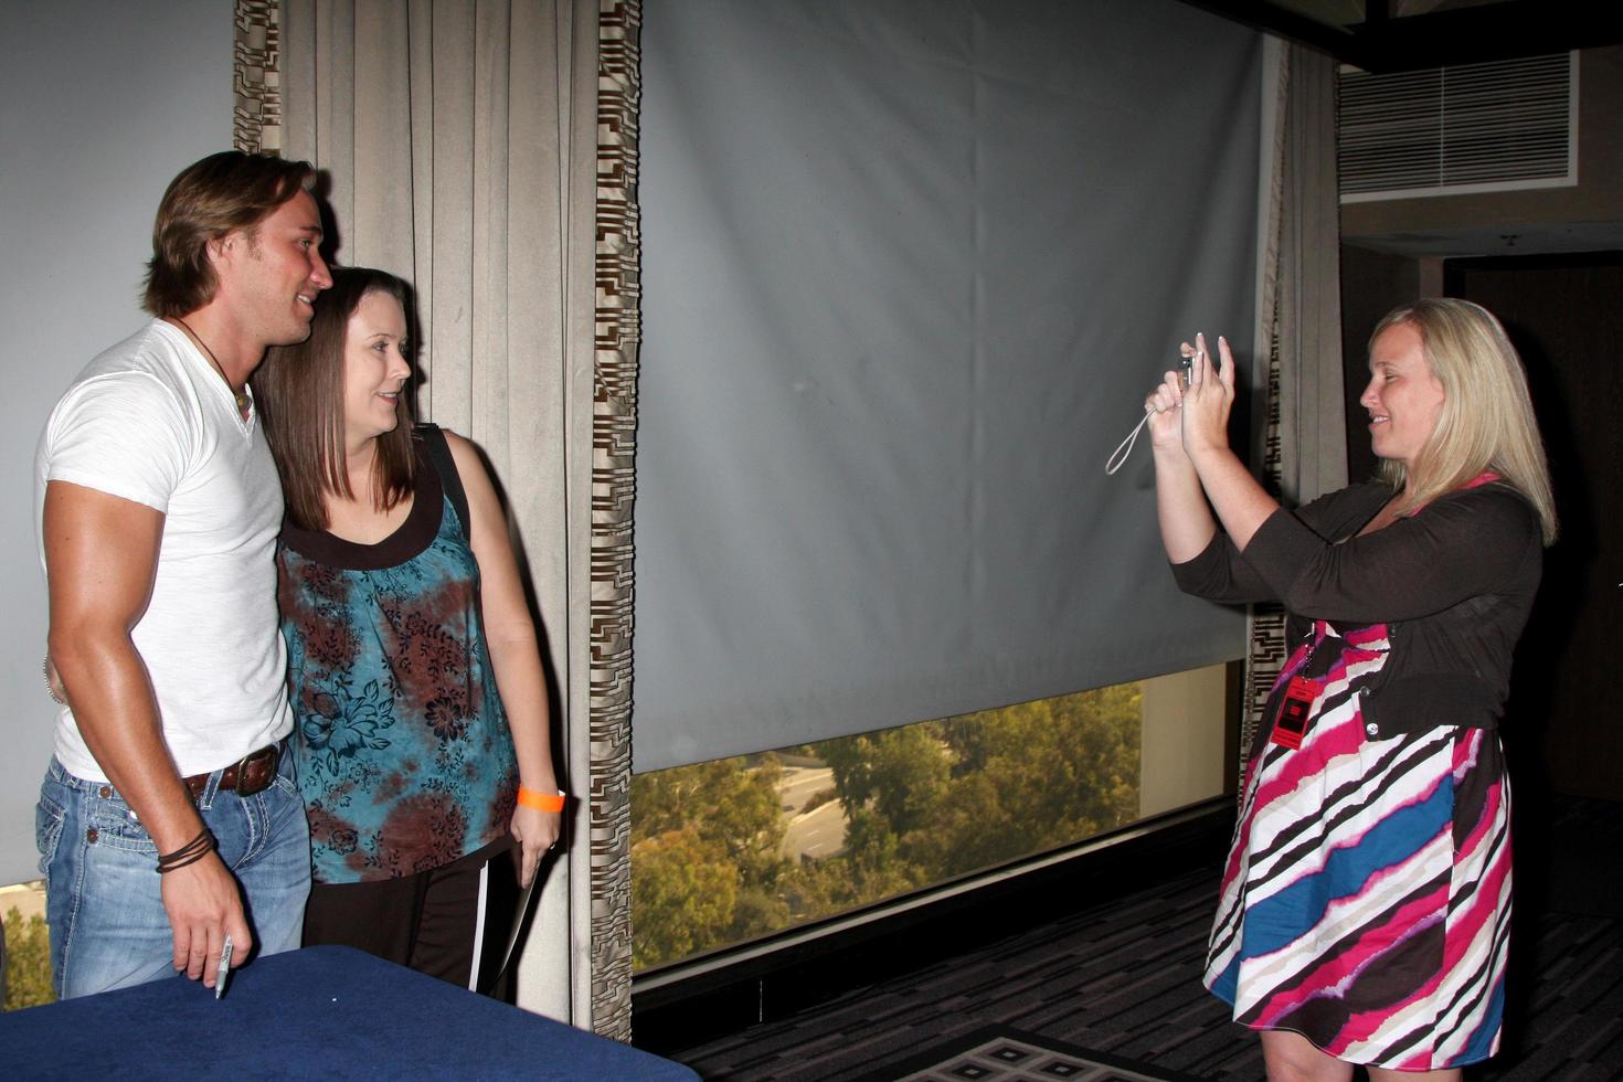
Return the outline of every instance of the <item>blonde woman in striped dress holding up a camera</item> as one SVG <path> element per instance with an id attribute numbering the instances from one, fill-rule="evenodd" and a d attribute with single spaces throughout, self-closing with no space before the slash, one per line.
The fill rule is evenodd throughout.
<path id="1" fill-rule="evenodd" d="M 1290 655 L 1248 749 L 1206 985 L 1271 1079 L 1461 1077 L 1498 1050 L 1511 650 L 1555 540 L 1521 360 L 1462 300 L 1370 339 L 1378 480 L 1295 511 L 1229 449 L 1233 359 L 1206 339 L 1151 393 L 1178 586 L 1285 607 Z M 1214 516 L 1216 513 L 1216 516 Z"/>

